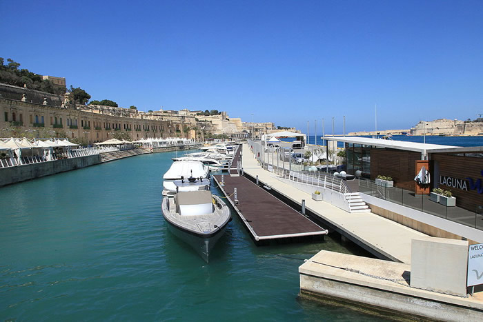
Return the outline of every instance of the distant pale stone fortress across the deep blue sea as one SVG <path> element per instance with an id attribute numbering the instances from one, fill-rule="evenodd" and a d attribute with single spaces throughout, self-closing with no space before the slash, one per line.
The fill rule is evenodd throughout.
<path id="1" fill-rule="evenodd" d="M 442 136 L 475 136 L 483 135 L 483 119 L 477 121 L 460 121 L 437 119 L 420 121 L 408 130 L 379 130 L 350 132 L 348 135 L 442 135 Z"/>

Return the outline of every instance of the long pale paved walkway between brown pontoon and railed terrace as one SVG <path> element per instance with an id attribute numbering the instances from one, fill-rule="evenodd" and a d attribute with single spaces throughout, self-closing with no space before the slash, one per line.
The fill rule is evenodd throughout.
<path id="1" fill-rule="evenodd" d="M 311 194 L 279 181 L 273 172 L 262 169 L 248 144 L 243 145 L 242 165 L 246 174 L 258 176 L 259 181 L 298 204 L 305 199 L 308 210 L 337 227 L 346 237 L 393 261 L 411 263 L 411 240 L 426 236 L 372 212 L 351 214 L 330 203 L 312 200 Z"/>

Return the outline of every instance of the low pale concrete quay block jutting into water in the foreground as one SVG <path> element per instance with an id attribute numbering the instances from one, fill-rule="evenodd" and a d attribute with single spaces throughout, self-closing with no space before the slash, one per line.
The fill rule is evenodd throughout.
<path id="1" fill-rule="evenodd" d="M 411 265 L 322 250 L 299 267 L 300 294 L 362 303 L 393 315 L 482 321 L 483 294 L 462 297 L 410 287 Z"/>

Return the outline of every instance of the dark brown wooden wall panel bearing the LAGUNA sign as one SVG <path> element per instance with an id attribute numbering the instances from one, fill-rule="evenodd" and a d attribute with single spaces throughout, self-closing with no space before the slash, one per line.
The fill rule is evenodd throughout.
<path id="1" fill-rule="evenodd" d="M 483 170 L 483 158 L 460 157 L 451 154 L 431 154 L 431 159 L 435 162 L 435 168 L 439 169 L 440 176 L 466 181 L 468 191 L 440 183 L 440 188 L 453 192 L 453 196 L 456 197 L 456 205 L 470 211 L 482 212 L 483 210 L 477 210 L 476 207 L 483 205 L 483 194 L 479 194 L 476 190 L 471 190 L 469 180 L 466 178 L 473 178 L 473 181 L 482 179 L 483 181 L 481 173 Z M 440 178 L 435 179 L 440 181 Z"/>

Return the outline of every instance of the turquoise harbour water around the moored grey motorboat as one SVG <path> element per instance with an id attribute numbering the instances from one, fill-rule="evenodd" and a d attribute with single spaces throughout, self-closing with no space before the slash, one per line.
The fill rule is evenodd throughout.
<path id="1" fill-rule="evenodd" d="M 257 248 L 235 217 L 204 263 L 161 215 L 174 154 L 0 188 L 0 319 L 379 319 L 297 297 L 303 259 L 321 249 L 359 253 L 331 238 Z"/>

